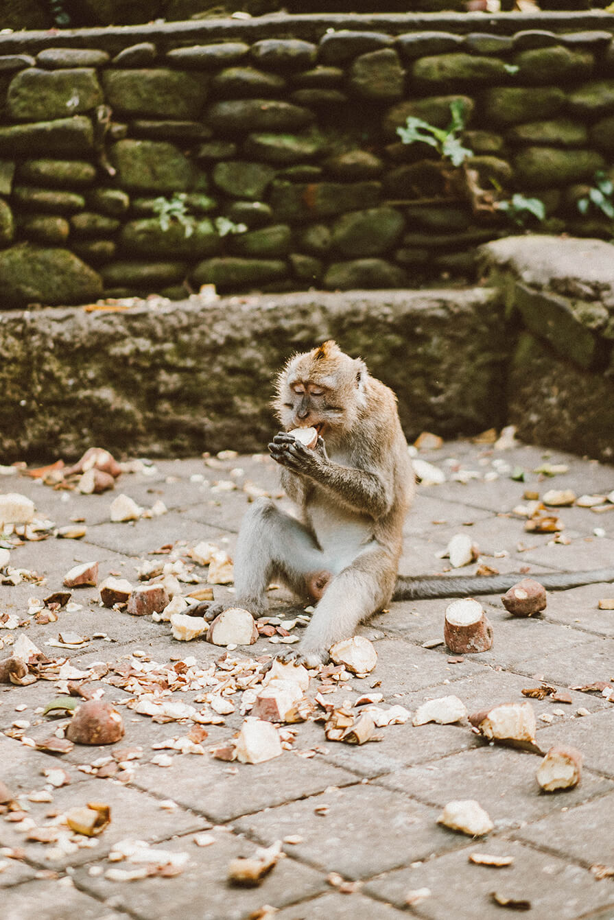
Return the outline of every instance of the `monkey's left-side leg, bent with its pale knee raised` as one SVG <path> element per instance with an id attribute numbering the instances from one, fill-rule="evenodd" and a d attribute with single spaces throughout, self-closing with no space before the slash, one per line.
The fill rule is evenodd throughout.
<path id="1" fill-rule="evenodd" d="M 238 534 L 234 603 L 260 615 L 267 608 L 270 581 L 283 581 L 304 597 L 318 590 L 326 574 L 323 553 L 307 527 L 270 499 L 254 501 Z"/>

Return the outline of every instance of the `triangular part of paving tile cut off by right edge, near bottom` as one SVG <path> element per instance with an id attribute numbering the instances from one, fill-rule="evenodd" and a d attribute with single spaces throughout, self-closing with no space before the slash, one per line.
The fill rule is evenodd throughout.
<path id="1" fill-rule="evenodd" d="M 584 778 L 583 778 L 584 782 Z M 578 808 L 553 812 L 542 821 L 529 824 L 515 836 L 585 866 L 614 866 L 614 796 L 601 796 Z M 609 892 L 614 904 L 614 893 Z"/>

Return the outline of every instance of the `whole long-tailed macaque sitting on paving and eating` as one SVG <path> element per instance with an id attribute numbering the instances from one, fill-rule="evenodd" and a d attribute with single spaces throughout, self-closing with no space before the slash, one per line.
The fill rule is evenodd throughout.
<path id="1" fill-rule="evenodd" d="M 414 491 L 397 400 L 365 363 L 334 341 L 297 354 L 277 377 L 274 399 L 284 431 L 269 451 L 298 518 L 259 499 L 246 513 L 235 554 L 234 605 L 254 616 L 267 608 L 270 581 L 317 601 L 297 653 L 315 665 L 330 646 L 391 599 L 468 596 L 506 591 L 520 574 L 397 579 L 405 514 Z M 288 433 L 315 428 L 305 446 Z M 614 581 L 614 569 L 539 576 L 546 588 Z M 208 619 L 224 604 L 197 605 Z M 208 606 L 208 609 L 204 609 Z M 290 653 L 295 654 L 295 652 Z"/>

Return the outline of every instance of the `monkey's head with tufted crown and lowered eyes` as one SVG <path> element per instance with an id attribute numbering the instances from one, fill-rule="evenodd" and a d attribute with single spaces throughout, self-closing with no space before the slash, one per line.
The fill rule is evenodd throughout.
<path id="1" fill-rule="evenodd" d="M 277 377 L 273 406 L 285 431 L 313 427 L 334 438 L 353 427 L 365 407 L 365 362 L 326 341 L 296 354 Z"/>

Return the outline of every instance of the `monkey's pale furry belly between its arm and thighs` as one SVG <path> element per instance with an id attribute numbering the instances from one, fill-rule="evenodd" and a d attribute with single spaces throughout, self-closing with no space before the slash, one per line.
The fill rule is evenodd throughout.
<path id="1" fill-rule="evenodd" d="M 346 512 L 330 500 L 314 502 L 309 508 L 309 521 L 318 537 L 333 573 L 349 565 L 369 544 L 375 545 L 373 520 L 363 514 Z"/>

